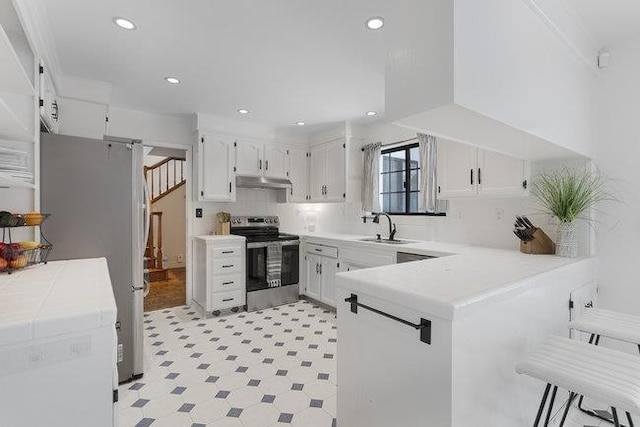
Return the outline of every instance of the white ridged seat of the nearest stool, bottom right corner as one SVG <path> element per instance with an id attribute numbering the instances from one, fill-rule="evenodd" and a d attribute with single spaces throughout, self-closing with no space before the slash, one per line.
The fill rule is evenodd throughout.
<path id="1" fill-rule="evenodd" d="M 640 357 L 551 336 L 516 372 L 640 415 Z"/>

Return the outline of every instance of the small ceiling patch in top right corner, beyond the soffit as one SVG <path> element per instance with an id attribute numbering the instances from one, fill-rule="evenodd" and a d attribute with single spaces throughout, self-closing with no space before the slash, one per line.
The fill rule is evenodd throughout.
<path id="1" fill-rule="evenodd" d="M 632 37 L 640 37 L 638 0 L 564 0 L 573 9 L 602 47 L 611 47 Z"/>

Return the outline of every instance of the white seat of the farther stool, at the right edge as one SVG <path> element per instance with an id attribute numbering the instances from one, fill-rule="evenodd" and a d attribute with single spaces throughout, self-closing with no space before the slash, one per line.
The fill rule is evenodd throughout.
<path id="1" fill-rule="evenodd" d="M 640 317 L 598 308 L 588 309 L 569 327 L 590 334 L 640 344 Z"/>

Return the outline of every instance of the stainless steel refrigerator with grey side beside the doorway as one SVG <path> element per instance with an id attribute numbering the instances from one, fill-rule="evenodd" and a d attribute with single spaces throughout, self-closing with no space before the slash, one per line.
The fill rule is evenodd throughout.
<path id="1" fill-rule="evenodd" d="M 45 134 L 40 139 L 42 232 L 50 260 L 106 257 L 118 307 L 120 382 L 143 373 L 145 198 L 140 141 Z M 121 361 L 120 361 L 121 360 Z"/>

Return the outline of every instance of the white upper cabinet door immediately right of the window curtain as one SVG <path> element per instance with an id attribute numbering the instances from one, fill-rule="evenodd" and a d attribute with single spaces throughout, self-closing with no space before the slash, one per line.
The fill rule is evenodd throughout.
<path id="1" fill-rule="evenodd" d="M 438 197 L 475 196 L 478 149 L 451 141 L 438 143 Z"/>

